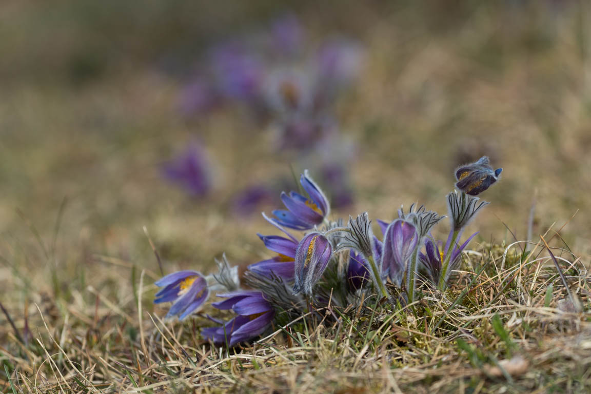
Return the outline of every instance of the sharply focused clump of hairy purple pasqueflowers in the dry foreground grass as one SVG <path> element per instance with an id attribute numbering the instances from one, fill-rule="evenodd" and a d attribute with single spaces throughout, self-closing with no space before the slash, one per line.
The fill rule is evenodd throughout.
<path id="1" fill-rule="evenodd" d="M 264 333 L 278 316 L 295 317 L 329 303 L 346 307 L 372 295 L 412 303 L 425 286 L 444 290 L 462 261 L 462 251 L 476 236 L 460 244 L 466 224 L 488 204 L 472 194 L 490 186 L 491 177 L 498 180 L 501 169 L 493 171 L 483 157 L 456 172 L 460 190 L 447 195 L 450 233 L 445 244 L 431 235 L 444 216 L 415 204 L 408 211 L 400 209 L 392 221 L 378 220 L 381 240 L 367 213 L 350 217 L 346 225 L 330 220 L 329 201 L 304 171 L 300 183 L 306 194 L 282 193 L 285 209 L 273 211 L 272 217 L 263 213 L 282 235 L 259 235 L 275 255 L 249 265 L 242 284 L 223 256 L 215 275 L 180 271 L 160 279 L 156 285 L 163 289 L 154 302 L 173 302 L 167 317 L 183 320 L 221 289 L 216 295 L 225 299 L 212 306 L 232 310 L 235 317 L 209 317 L 218 325 L 205 328 L 202 335 L 232 347 Z"/>

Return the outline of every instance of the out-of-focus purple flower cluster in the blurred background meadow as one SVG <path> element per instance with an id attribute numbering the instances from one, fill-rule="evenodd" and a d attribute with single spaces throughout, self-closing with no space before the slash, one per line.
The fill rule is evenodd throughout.
<path id="1" fill-rule="evenodd" d="M 306 162 L 323 181 L 333 206 L 349 206 L 353 190 L 346 168 L 354 155 L 346 152 L 350 144 L 339 134 L 334 113 L 340 93 L 361 70 L 362 49 L 344 38 L 316 47 L 304 36 L 298 19 L 285 15 L 260 31 L 216 43 L 197 62 L 183 89 L 180 109 L 186 118 L 199 119 L 230 104 L 243 106 L 252 115 L 249 119 L 257 121 L 256 130 L 272 132 L 273 150 L 290 155 L 290 161 Z M 322 161 L 314 162 L 317 157 Z M 206 167 L 199 162 L 180 162 L 177 171 L 165 175 L 202 196 L 209 190 L 200 185 L 207 181 L 199 175 L 202 169 Z M 246 185 L 234 198 L 236 213 L 248 216 L 259 211 L 274 201 L 279 190 L 283 189 L 277 184 Z"/>

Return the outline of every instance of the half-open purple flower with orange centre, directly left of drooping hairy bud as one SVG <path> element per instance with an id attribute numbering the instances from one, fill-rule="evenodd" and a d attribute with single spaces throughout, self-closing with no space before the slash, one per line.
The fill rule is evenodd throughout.
<path id="1" fill-rule="evenodd" d="M 252 272 L 263 276 L 269 276 L 271 272 L 287 281 L 292 281 L 295 275 L 296 250 L 298 243 L 293 239 L 288 239 L 275 235 L 258 235 L 268 249 L 278 253 L 272 259 L 259 261 L 248 266 Z"/>

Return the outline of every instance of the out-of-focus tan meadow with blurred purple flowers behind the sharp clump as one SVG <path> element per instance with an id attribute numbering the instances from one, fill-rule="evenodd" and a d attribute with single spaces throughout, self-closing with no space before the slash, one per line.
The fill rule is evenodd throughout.
<path id="1" fill-rule="evenodd" d="M 590 21 L 558 0 L 4 0 L 0 284 L 129 301 L 136 268 L 159 275 L 143 226 L 167 272 L 252 263 L 304 168 L 333 217 L 386 220 L 445 213 L 482 155 L 504 172 L 479 242 L 526 239 L 535 202 L 534 240 L 578 211 L 561 235 L 588 253 Z"/>

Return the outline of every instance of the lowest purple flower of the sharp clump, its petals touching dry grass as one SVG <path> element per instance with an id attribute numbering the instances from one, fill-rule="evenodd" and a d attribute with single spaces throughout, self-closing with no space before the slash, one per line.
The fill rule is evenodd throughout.
<path id="1" fill-rule="evenodd" d="M 227 299 L 213 302 L 214 307 L 220 310 L 232 309 L 238 316 L 221 327 L 208 327 L 201 331 L 203 337 L 209 338 L 213 343 L 228 343 L 232 347 L 250 340 L 264 333 L 275 317 L 272 305 L 259 291 L 236 291 L 217 294 L 217 297 Z"/>

